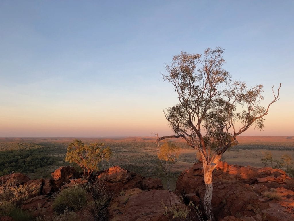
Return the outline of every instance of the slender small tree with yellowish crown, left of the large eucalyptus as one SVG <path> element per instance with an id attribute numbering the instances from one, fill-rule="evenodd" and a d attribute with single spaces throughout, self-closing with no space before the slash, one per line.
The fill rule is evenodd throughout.
<path id="1" fill-rule="evenodd" d="M 157 135 L 158 136 L 158 135 Z M 159 137 L 158 137 L 159 138 Z M 176 159 L 179 158 L 180 148 L 172 142 L 165 142 L 161 146 L 157 147 L 157 156 L 161 162 L 161 166 L 167 180 L 167 189 L 170 185 L 171 167 L 176 163 Z"/>

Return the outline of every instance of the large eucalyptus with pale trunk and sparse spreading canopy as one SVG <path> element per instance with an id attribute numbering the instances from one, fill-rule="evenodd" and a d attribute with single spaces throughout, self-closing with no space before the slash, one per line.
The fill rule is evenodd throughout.
<path id="1" fill-rule="evenodd" d="M 259 106 L 263 85 L 249 89 L 244 82 L 231 80 L 223 69 L 223 52 L 219 47 L 208 48 L 204 56 L 181 52 L 166 65 L 163 79 L 174 86 L 179 103 L 164 112 L 175 135 L 157 139 L 157 143 L 166 138 L 185 139 L 201 155 L 206 186 L 203 204 L 209 220 L 213 219 L 213 170 L 223 153 L 238 144 L 238 135 L 251 126 L 264 128 L 264 116 L 280 92 L 280 87 L 277 94 L 272 89 L 274 99 L 267 107 Z"/>

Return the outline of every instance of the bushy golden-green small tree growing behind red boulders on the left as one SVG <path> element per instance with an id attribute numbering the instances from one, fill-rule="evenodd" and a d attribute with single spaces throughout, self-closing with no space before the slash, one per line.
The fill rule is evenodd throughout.
<path id="1" fill-rule="evenodd" d="M 98 170 L 98 163 L 101 161 L 101 147 L 103 143 L 84 144 L 81 140 L 75 139 L 69 144 L 65 161 L 78 164 L 83 174 L 89 178 L 93 171 Z"/>

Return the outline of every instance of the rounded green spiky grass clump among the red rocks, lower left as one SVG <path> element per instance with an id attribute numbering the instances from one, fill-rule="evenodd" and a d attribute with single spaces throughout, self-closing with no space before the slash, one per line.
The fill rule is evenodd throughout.
<path id="1" fill-rule="evenodd" d="M 86 205 L 86 190 L 76 185 L 61 190 L 54 199 L 53 210 L 55 212 L 63 212 L 66 209 L 69 211 L 76 211 L 81 210 Z"/>

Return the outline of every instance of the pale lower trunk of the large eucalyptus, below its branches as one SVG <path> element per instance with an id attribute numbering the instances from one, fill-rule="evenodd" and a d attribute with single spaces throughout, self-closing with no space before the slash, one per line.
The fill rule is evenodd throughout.
<path id="1" fill-rule="evenodd" d="M 203 160 L 203 170 L 204 170 L 204 183 L 205 183 L 205 196 L 204 196 L 204 211 L 208 218 L 208 221 L 213 220 L 211 199 L 212 199 L 212 171 L 214 168 L 211 168 L 210 165 L 207 165 L 207 162 Z"/>

